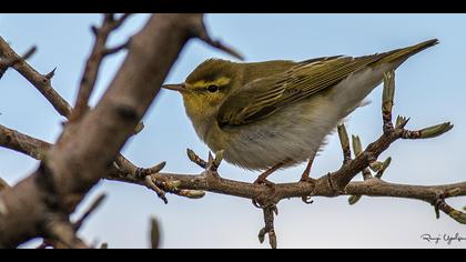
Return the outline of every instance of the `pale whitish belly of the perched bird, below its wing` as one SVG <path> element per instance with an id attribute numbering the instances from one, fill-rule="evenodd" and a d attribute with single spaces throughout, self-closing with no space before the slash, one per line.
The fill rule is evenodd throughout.
<path id="1" fill-rule="evenodd" d="M 244 169 L 265 170 L 285 161 L 285 167 L 290 167 L 317 152 L 340 119 L 340 112 L 327 99 L 316 97 L 281 110 L 265 121 L 215 129 L 210 134 L 217 135 L 215 141 L 223 144 L 209 139 L 206 142 L 214 151 L 223 149 L 226 162 Z"/>

